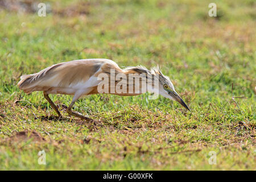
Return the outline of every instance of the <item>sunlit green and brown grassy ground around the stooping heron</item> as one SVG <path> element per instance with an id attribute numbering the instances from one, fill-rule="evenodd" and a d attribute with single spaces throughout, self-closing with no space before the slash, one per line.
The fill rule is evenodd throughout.
<path id="1" fill-rule="evenodd" d="M 0 6 L 1 170 L 255 170 L 255 1 L 216 1 L 217 17 L 212 1 L 48 1 L 46 17 L 23 2 L 24 12 Z M 161 96 L 94 95 L 74 109 L 101 124 L 57 121 L 45 118 L 55 113 L 42 93 L 16 86 L 25 73 L 89 58 L 161 65 L 191 114 Z M 71 97 L 51 98 L 67 116 Z"/>

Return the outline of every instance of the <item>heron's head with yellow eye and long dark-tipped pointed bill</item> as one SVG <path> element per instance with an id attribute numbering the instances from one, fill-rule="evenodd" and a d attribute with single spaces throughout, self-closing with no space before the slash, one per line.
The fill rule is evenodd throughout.
<path id="1" fill-rule="evenodd" d="M 183 107 L 185 107 L 187 110 L 190 111 L 187 104 L 185 104 L 185 102 L 182 100 L 179 94 L 177 94 L 177 92 L 175 91 L 174 85 L 172 84 L 170 78 L 167 76 L 164 76 L 163 73 L 160 71 L 159 67 L 152 68 L 151 73 L 152 75 L 156 76 L 156 78 L 158 79 L 158 82 L 159 82 L 158 92 L 160 95 L 179 102 Z"/>

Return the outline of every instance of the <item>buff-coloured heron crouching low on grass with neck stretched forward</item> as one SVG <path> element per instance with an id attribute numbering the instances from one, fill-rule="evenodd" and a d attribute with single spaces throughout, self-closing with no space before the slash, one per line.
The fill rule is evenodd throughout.
<path id="1" fill-rule="evenodd" d="M 114 73 L 114 75 L 112 73 Z M 105 81 L 105 85 L 102 85 L 103 80 L 105 80 L 105 78 L 99 79 L 102 74 L 105 77 L 114 76 L 114 81 L 110 79 Z M 140 79 L 139 81 L 137 80 L 137 83 L 135 82 L 136 76 L 133 77 L 131 81 L 129 80 L 131 74 L 137 75 L 137 77 L 139 76 Z M 118 76 L 119 81 L 115 79 Z M 146 80 L 146 89 L 143 89 L 142 84 L 140 84 L 143 78 Z M 120 84 L 120 82 L 122 82 L 122 84 Z M 124 90 L 124 92 L 113 89 L 115 86 L 118 86 L 118 84 L 119 89 Z M 148 87 L 147 85 L 150 84 L 151 87 Z M 19 89 L 27 94 L 35 91 L 43 91 L 44 98 L 46 98 L 56 111 L 59 118 L 61 118 L 62 115 L 51 98 L 49 98 L 49 94 L 72 95 L 73 98 L 71 104 L 67 107 L 67 113 L 85 119 L 86 121 L 92 121 L 93 119 L 73 111 L 72 106 L 82 96 L 99 93 L 109 93 L 119 96 L 137 96 L 145 92 L 157 92 L 163 97 L 179 102 L 185 109 L 189 110 L 187 104 L 185 104 L 175 91 L 170 78 L 164 76 L 159 67 L 151 68 L 150 70 L 142 66 L 121 69 L 117 63 L 109 59 L 81 59 L 54 64 L 38 73 L 21 76 L 18 86 Z M 132 89 L 130 89 L 131 86 L 133 86 Z M 101 90 L 99 88 L 101 88 Z M 102 89 L 105 90 L 105 92 L 102 92 Z M 130 92 L 126 92 L 127 90 Z"/>

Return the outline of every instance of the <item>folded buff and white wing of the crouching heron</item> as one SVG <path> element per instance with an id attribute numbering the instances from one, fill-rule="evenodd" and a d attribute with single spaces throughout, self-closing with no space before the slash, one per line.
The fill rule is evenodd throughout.
<path id="1" fill-rule="evenodd" d="M 81 86 L 96 86 L 96 73 L 109 68 L 119 68 L 112 60 L 86 59 L 74 60 L 52 65 L 39 73 L 23 76 L 18 83 L 19 88 L 27 93 L 48 88 L 79 88 Z M 120 69 L 120 68 L 119 68 Z M 95 77 L 95 78 L 94 78 Z M 90 79 L 90 80 L 89 80 Z M 88 81 L 89 85 L 85 85 Z"/>

